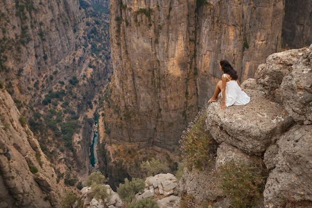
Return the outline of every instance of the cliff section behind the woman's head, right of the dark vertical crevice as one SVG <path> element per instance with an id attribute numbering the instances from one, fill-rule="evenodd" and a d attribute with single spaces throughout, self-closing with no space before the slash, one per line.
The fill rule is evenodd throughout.
<path id="1" fill-rule="evenodd" d="M 198 97 L 203 105 L 227 59 L 239 79 L 255 75 L 268 55 L 281 50 L 283 0 L 208 1 L 199 9 L 197 36 Z"/>

